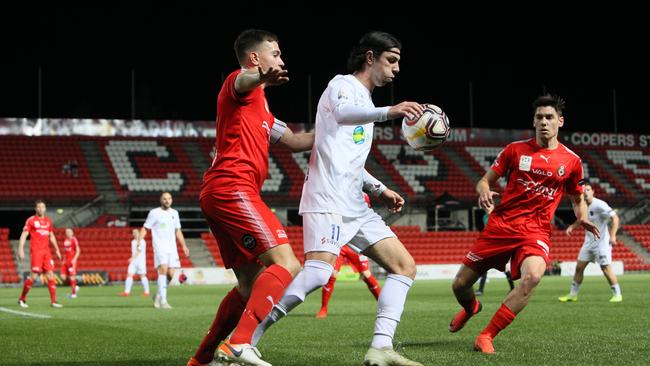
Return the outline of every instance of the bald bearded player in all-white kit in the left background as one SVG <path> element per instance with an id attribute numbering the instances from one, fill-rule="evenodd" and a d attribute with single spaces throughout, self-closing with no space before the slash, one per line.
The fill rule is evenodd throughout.
<path id="1" fill-rule="evenodd" d="M 189 257 L 190 251 L 185 245 L 185 237 L 181 231 L 181 220 L 178 211 L 172 207 L 172 195 L 163 192 L 160 195 L 160 207 L 149 211 L 147 220 L 140 229 L 140 238 L 144 240 L 147 229 L 153 237 L 154 266 L 158 270 L 158 291 L 153 306 L 156 309 L 171 309 L 167 302 L 167 283 L 174 276 L 174 270 L 181 267 L 178 257 L 176 240 L 181 244 L 183 253 Z"/>

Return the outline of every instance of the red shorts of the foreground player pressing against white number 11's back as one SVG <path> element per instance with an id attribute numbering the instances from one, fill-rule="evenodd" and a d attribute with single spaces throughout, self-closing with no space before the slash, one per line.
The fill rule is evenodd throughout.
<path id="1" fill-rule="evenodd" d="M 282 224 L 259 194 L 231 191 L 201 197 L 201 211 L 226 268 L 259 263 L 267 250 L 289 244 Z"/>

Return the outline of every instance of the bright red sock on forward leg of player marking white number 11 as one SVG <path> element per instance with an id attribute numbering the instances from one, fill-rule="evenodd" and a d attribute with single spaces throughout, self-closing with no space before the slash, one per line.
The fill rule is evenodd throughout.
<path id="1" fill-rule="evenodd" d="M 271 265 L 257 277 L 246 310 L 230 337 L 231 343 L 251 343 L 255 328 L 278 303 L 292 279 L 291 273 L 278 264 Z"/>

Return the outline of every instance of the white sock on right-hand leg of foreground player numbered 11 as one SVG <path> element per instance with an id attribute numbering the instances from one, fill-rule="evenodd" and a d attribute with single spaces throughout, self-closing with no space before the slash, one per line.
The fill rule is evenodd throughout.
<path id="1" fill-rule="evenodd" d="M 377 301 L 377 319 L 375 333 L 372 337 L 372 348 L 393 348 L 393 337 L 397 324 L 404 311 L 404 302 L 413 280 L 409 277 L 389 274 Z"/>

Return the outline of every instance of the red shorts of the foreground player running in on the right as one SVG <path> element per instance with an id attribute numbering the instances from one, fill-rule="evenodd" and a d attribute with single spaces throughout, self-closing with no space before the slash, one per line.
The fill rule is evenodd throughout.
<path id="1" fill-rule="evenodd" d="M 476 242 L 469 248 L 469 253 L 463 258 L 463 264 L 478 273 L 484 273 L 490 268 L 505 271 L 510 262 L 512 279 L 521 276 L 521 263 L 530 256 L 539 256 L 549 263 L 548 238 L 531 235 L 530 237 L 512 237 L 487 234 L 482 232 Z"/>

